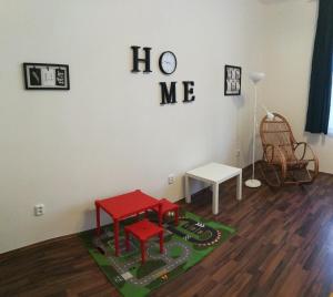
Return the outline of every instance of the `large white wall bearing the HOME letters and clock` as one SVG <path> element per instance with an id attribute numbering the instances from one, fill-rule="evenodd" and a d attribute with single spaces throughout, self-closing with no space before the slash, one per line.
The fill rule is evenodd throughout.
<path id="1" fill-rule="evenodd" d="M 186 170 L 236 164 L 238 147 L 249 164 L 252 93 L 244 79 L 244 98 L 224 98 L 223 70 L 262 68 L 262 19 L 249 0 L 0 0 L 0 253 L 93 227 L 95 197 L 175 201 Z M 133 44 L 153 48 L 152 74 L 130 72 Z M 22 62 L 68 63 L 71 90 L 23 90 Z M 193 80 L 195 102 L 160 106 L 171 80 Z"/>

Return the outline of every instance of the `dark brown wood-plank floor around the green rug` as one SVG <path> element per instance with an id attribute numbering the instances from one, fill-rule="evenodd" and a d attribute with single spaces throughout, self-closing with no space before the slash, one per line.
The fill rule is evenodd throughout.
<path id="1" fill-rule="evenodd" d="M 245 174 L 246 177 L 246 174 Z M 329 296 L 333 291 L 333 176 L 272 191 L 235 181 L 182 205 L 238 228 L 238 234 L 153 296 Z M 120 296 L 77 237 L 0 256 L 0 296 Z"/>

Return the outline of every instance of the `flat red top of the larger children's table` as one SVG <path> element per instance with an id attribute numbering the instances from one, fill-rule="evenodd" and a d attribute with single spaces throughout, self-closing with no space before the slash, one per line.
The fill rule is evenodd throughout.
<path id="1" fill-rule="evenodd" d="M 121 219 L 153 208 L 160 204 L 160 201 L 137 190 L 123 195 L 98 199 L 95 204 L 113 218 Z"/>

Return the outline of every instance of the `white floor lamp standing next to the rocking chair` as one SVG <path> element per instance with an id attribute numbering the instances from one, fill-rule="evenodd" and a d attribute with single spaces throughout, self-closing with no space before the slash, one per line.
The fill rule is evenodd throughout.
<path id="1" fill-rule="evenodd" d="M 254 162 L 255 162 L 255 134 L 256 134 L 256 84 L 264 79 L 265 73 L 251 72 L 249 78 L 254 86 L 254 110 L 253 110 L 253 142 L 252 142 L 252 178 L 245 182 L 249 187 L 260 187 L 261 182 L 254 178 Z"/>

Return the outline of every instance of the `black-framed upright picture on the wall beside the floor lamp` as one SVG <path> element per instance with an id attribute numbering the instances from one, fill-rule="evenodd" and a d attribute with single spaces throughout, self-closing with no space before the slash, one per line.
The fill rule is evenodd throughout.
<path id="1" fill-rule="evenodd" d="M 224 66 L 224 95 L 239 96 L 242 86 L 242 68 L 225 65 Z"/>

